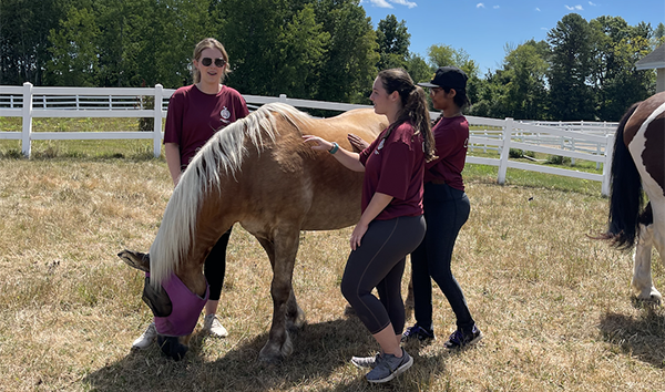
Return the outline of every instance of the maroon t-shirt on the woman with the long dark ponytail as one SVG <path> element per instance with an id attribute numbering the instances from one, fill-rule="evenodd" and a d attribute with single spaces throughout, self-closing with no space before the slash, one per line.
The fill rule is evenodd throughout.
<path id="1" fill-rule="evenodd" d="M 379 192 L 393 198 L 376 219 L 422 215 L 422 135 L 415 136 L 413 126 L 409 123 L 402 123 L 385 137 L 387 131 L 383 130 L 360 153 L 360 163 L 365 166 L 362 212 L 374 194 Z"/>

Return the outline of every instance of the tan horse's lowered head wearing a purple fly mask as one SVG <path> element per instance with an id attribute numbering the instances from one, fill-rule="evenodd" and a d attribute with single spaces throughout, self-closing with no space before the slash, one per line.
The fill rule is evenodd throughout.
<path id="1" fill-rule="evenodd" d="M 196 296 L 175 274 L 155 288 L 150 282 L 149 254 L 123 250 L 117 257 L 145 272 L 142 299 L 155 316 L 157 343 L 164 354 L 181 360 L 188 350 L 190 337 L 207 300 L 207 291 L 204 298 Z"/>

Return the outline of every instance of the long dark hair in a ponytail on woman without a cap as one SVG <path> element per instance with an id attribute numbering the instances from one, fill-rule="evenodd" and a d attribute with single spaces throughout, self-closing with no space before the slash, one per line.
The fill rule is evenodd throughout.
<path id="1" fill-rule="evenodd" d="M 415 134 L 422 133 L 422 138 L 424 140 L 424 159 L 427 162 L 434 159 L 437 157 L 434 155 L 434 136 L 432 135 L 424 90 L 413 84 L 413 80 L 409 76 L 409 73 L 401 68 L 383 70 L 379 72 L 378 78 L 381 80 L 381 84 L 388 94 L 392 94 L 393 91 L 399 93 L 402 103 L 402 109 L 398 113 L 395 124 L 391 124 L 391 127 L 410 121 L 416 128 Z"/>

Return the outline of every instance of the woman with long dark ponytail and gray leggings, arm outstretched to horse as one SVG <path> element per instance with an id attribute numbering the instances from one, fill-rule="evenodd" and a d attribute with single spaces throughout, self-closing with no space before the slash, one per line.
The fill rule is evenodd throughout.
<path id="1" fill-rule="evenodd" d="M 405 70 L 381 71 L 370 100 L 390 125 L 360 154 L 320 137 L 304 138 L 346 167 L 365 172 L 362 215 L 351 234 L 341 292 L 381 347 L 379 354 L 354 357 L 351 362 L 372 369 L 369 382 L 387 382 L 413 363 L 400 348 L 405 326 L 400 288 L 405 258 L 424 236 L 422 177 L 424 162 L 433 158 L 433 137 L 424 92 Z M 371 293 L 375 287 L 380 299 Z"/>

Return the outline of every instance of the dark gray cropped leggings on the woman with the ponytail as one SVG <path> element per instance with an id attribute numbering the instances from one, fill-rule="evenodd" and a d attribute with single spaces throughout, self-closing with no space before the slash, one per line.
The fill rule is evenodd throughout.
<path id="1" fill-rule="evenodd" d="M 401 278 L 405 258 L 424 237 L 422 216 L 372 220 L 361 245 L 349 255 L 341 278 L 341 293 L 371 334 L 392 323 L 395 334 L 405 328 Z M 377 288 L 379 299 L 371 290 Z"/>

